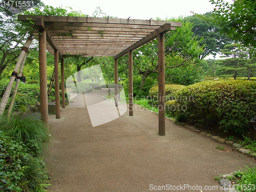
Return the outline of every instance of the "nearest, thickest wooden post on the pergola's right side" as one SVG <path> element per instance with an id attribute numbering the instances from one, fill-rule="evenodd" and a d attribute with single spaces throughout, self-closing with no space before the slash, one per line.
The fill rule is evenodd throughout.
<path id="1" fill-rule="evenodd" d="M 164 33 L 158 34 L 158 99 L 159 135 L 165 135 Z"/>

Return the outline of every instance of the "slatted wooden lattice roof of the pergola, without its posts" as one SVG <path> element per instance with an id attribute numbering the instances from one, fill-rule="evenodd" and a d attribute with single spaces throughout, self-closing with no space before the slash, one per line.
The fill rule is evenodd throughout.
<path id="1" fill-rule="evenodd" d="M 20 21 L 36 22 L 47 31 L 47 50 L 65 56 L 119 58 L 157 37 L 181 27 L 180 22 L 97 17 L 19 15 Z M 35 37 L 38 31 L 35 30 Z"/>

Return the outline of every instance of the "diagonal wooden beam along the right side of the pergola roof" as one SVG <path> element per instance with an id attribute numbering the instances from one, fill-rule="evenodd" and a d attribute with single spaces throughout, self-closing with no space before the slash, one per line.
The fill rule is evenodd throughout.
<path id="1" fill-rule="evenodd" d="M 156 29 L 152 33 L 150 33 L 147 36 L 143 37 L 141 40 L 137 41 L 135 44 L 133 44 L 129 48 L 123 50 L 121 53 L 116 55 L 114 57 L 114 59 L 118 59 L 121 56 L 126 55 L 129 51 L 133 51 L 133 50 L 139 48 L 140 46 L 146 44 L 147 42 L 150 42 L 151 40 L 155 39 L 158 36 L 159 33 L 166 33 L 166 32 L 168 32 L 170 30 L 171 30 L 171 25 L 168 24 L 168 23 L 164 24 L 163 26 L 159 27 L 158 29 Z"/>

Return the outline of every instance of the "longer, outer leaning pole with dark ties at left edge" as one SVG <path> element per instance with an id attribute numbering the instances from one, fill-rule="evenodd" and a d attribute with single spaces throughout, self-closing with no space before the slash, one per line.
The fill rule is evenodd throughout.
<path id="1" fill-rule="evenodd" d="M 13 82 L 15 81 L 15 79 L 17 78 L 17 71 L 19 71 L 20 69 L 20 65 L 22 65 L 22 61 L 25 57 L 25 55 L 28 53 L 28 49 L 29 49 L 29 46 L 32 42 L 32 35 L 30 35 L 27 39 L 27 41 L 25 42 L 25 45 L 22 49 L 22 52 L 20 53 L 19 57 L 18 57 L 18 61 L 16 62 L 16 66 L 12 72 L 12 76 L 10 77 L 10 81 L 9 81 L 9 84 L 6 88 L 6 91 L 3 95 L 3 98 L 2 98 L 2 101 L 0 103 L 0 115 L 3 115 L 4 111 L 5 111 L 5 107 L 7 105 L 7 102 L 8 102 L 8 99 L 10 97 L 10 94 L 11 94 L 11 90 L 12 90 L 12 86 L 13 86 Z"/>

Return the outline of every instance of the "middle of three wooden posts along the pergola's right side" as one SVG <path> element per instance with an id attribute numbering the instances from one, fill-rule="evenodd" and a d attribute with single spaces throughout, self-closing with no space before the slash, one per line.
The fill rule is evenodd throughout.
<path id="1" fill-rule="evenodd" d="M 133 116 L 133 51 L 128 52 L 129 69 L 129 116 Z"/>

